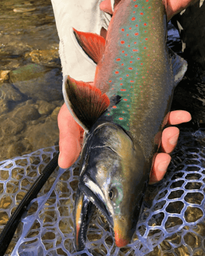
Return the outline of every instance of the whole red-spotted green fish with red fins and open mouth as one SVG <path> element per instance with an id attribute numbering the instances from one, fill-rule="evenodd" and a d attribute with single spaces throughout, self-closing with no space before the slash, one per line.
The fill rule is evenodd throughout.
<path id="1" fill-rule="evenodd" d="M 122 0 L 106 39 L 73 28 L 83 54 L 96 63 L 93 86 L 63 78 L 64 100 L 85 130 L 74 209 L 77 251 L 86 246 L 95 207 L 116 246 L 132 241 L 174 88 L 187 70 L 166 45 L 164 4 Z"/>

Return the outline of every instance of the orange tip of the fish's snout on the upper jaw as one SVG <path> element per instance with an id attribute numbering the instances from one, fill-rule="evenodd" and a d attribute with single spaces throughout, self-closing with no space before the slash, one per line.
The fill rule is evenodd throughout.
<path id="1" fill-rule="evenodd" d="M 135 231 L 134 228 L 132 228 L 130 220 L 126 220 L 123 216 L 114 219 L 113 229 L 117 247 L 124 247 L 125 245 L 128 245 Z"/>

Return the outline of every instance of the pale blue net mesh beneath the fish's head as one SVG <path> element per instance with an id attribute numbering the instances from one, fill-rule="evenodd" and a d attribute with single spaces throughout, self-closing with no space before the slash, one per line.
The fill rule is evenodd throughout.
<path id="1" fill-rule="evenodd" d="M 205 255 L 205 130 L 182 132 L 164 179 L 148 186 L 130 245 L 117 248 L 98 210 L 89 223 L 86 249 L 74 248 L 73 205 L 79 159 L 50 176 L 24 216 L 5 255 Z M 0 162 L 0 229 L 4 227 L 57 147 Z"/>

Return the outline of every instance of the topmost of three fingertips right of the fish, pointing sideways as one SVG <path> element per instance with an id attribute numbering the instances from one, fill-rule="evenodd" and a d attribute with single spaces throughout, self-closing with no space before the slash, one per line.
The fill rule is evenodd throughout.
<path id="1" fill-rule="evenodd" d="M 176 125 L 179 123 L 187 123 L 191 120 L 191 115 L 185 110 L 171 111 L 168 118 L 168 125 Z"/>

